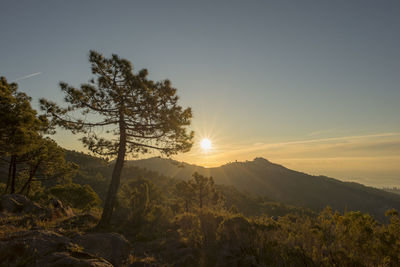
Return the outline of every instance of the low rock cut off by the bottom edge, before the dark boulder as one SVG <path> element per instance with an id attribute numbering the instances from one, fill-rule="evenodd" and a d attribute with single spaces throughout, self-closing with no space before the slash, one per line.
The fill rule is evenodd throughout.
<path id="1" fill-rule="evenodd" d="M 93 258 L 86 253 L 55 252 L 37 262 L 41 267 L 112 267 L 113 265 L 102 258 Z"/>

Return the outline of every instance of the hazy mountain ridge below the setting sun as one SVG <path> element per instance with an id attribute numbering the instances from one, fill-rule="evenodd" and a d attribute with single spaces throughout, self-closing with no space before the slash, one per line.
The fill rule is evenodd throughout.
<path id="1" fill-rule="evenodd" d="M 127 165 L 182 180 L 188 180 L 194 172 L 198 172 L 212 176 L 217 184 L 231 185 L 242 192 L 317 211 L 331 206 L 341 212 L 361 211 L 384 219 L 386 210 L 400 210 L 400 196 L 397 194 L 358 183 L 290 170 L 264 158 L 233 162 L 215 168 L 164 158 L 129 161 Z"/>

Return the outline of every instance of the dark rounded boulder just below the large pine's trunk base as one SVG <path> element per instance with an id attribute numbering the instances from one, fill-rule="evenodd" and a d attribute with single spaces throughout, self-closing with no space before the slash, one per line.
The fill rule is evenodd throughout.
<path id="1" fill-rule="evenodd" d="M 83 247 L 87 253 L 105 258 L 114 266 L 122 266 L 130 254 L 129 241 L 117 233 L 77 235 L 72 242 Z"/>

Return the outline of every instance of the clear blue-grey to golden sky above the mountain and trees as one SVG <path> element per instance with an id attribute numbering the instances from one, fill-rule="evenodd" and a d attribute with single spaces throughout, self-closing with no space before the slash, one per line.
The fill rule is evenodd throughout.
<path id="1" fill-rule="evenodd" d="M 0 75 L 35 108 L 40 97 L 61 104 L 60 81 L 91 78 L 90 49 L 115 53 L 171 80 L 192 107 L 196 142 L 177 160 L 264 157 L 400 186 L 399 14 L 397 0 L 3 0 Z M 83 149 L 69 132 L 53 138 Z"/>

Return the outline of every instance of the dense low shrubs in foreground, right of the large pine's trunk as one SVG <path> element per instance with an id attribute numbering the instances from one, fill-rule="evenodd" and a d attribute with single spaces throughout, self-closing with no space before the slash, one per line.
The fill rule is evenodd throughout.
<path id="1" fill-rule="evenodd" d="M 227 206 L 233 193 L 224 195 L 213 185 L 209 192 L 221 193 L 226 202 L 205 201 L 200 208 L 194 194 L 186 212 L 181 203 L 185 198 L 173 188 L 161 190 L 143 178 L 134 181 L 120 194 L 114 229 L 136 244 L 139 255 L 151 255 L 158 264 L 397 266 L 400 260 L 400 219 L 395 211 L 387 213 L 390 223 L 381 224 L 360 212 L 340 214 L 326 208 L 313 213 L 274 203 L 281 210 L 247 217 Z M 259 205 L 267 210 L 267 202 Z"/>

